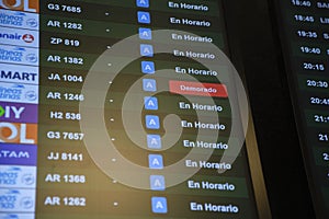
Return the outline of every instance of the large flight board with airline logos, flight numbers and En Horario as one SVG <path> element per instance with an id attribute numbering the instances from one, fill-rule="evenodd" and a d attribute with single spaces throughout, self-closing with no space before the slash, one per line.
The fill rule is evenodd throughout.
<path id="1" fill-rule="evenodd" d="M 220 1 L 1 0 L 0 38 L 1 219 L 259 217 Z"/>

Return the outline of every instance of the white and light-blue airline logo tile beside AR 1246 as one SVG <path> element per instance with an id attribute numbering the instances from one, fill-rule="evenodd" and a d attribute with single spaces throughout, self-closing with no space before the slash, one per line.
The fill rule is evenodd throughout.
<path id="1" fill-rule="evenodd" d="M 38 103 L 38 87 L 0 82 L 0 102 Z"/>

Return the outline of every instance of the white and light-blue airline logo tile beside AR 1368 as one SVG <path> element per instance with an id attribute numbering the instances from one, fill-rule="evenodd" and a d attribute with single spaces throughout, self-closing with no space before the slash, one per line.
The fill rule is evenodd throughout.
<path id="1" fill-rule="evenodd" d="M 36 166 L 0 165 L 0 187 L 35 188 L 35 182 Z"/>

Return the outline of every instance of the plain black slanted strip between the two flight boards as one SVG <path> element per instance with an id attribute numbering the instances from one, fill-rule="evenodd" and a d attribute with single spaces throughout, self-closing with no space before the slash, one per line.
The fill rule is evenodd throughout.
<path id="1" fill-rule="evenodd" d="M 232 62 L 246 76 L 273 218 L 315 218 L 274 0 L 224 0 Z"/>

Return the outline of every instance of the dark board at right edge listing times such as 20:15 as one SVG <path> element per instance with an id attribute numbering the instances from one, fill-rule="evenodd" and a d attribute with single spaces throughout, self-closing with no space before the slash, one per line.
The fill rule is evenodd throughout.
<path id="1" fill-rule="evenodd" d="M 329 2 L 280 1 L 291 91 L 315 209 L 329 215 Z M 326 217 L 327 216 L 327 217 Z"/>

